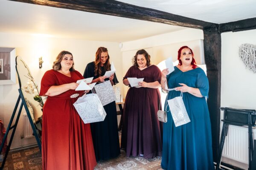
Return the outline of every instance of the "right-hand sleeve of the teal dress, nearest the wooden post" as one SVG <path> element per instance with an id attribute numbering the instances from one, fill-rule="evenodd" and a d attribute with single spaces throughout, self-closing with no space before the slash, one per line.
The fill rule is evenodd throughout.
<path id="1" fill-rule="evenodd" d="M 197 74 L 196 88 L 199 89 L 202 96 L 208 97 L 209 81 L 204 71 L 201 68 L 199 70 L 200 71 Z"/>

